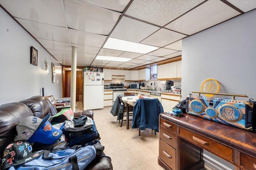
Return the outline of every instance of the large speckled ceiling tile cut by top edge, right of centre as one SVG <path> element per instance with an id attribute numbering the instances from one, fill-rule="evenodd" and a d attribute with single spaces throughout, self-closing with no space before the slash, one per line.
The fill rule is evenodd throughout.
<path id="1" fill-rule="evenodd" d="M 164 26 L 204 0 L 134 0 L 126 15 Z"/>

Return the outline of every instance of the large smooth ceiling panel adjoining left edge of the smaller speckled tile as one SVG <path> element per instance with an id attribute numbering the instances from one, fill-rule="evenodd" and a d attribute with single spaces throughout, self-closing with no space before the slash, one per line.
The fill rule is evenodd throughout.
<path id="1" fill-rule="evenodd" d="M 68 27 L 90 33 L 108 35 L 120 14 L 89 6 L 84 2 L 64 0 Z"/>

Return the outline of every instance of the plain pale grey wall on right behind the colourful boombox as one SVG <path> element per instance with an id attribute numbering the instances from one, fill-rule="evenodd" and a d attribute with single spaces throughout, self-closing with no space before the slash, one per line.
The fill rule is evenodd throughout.
<path id="1" fill-rule="evenodd" d="M 255 18 L 256 10 L 252 10 L 182 39 L 182 99 L 200 91 L 204 80 L 214 78 L 220 83 L 220 93 L 245 94 L 248 98 L 236 99 L 256 100 Z M 209 152 L 204 154 L 234 168 Z"/>

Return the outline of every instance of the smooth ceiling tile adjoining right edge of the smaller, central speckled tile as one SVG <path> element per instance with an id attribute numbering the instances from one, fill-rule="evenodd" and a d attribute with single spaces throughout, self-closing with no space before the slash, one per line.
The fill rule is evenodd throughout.
<path id="1" fill-rule="evenodd" d="M 167 44 L 170 44 L 174 41 L 182 39 L 186 37 L 186 35 L 176 33 L 174 31 L 170 31 L 168 29 L 161 28 L 160 30 L 156 31 L 148 38 L 141 41 L 143 44 L 154 45 L 157 47 L 163 47 Z"/>

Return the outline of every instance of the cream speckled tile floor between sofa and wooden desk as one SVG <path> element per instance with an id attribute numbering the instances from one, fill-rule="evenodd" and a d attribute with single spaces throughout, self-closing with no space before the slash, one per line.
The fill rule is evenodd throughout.
<path id="1" fill-rule="evenodd" d="M 117 117 L 110 113 L 111 106 L 94 110 L 94 121 L 105 147 L 104 152 L 112 159 L 114 170 L 164 170 L 158 165 L 158 137 L 151 129 L 141 131 L 126 129 L 126 121 L 120 127 Z M 78 103 L 76 111 L 82 111 Z M 132 121 L 129 121 L 130 127 Z M 210 170 L 205 167 L 204 170 Z"/>

